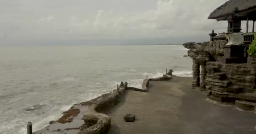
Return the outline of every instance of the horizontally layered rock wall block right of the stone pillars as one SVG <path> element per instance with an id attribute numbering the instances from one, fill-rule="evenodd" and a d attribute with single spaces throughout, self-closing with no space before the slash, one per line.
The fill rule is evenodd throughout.
<path id="1" fill-rule="evenodd" d="M 207 62 L 206 90 L 222 102 L 256 102 L 256 67 L 248 64 Z"/>

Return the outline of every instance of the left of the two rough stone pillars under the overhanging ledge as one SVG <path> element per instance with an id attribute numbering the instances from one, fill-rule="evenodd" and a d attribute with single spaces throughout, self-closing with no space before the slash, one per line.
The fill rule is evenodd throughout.
<path id="1" fill-rule="evenodd" d="M 192 87 L 196 88 L 200 86 L 200 64 L 197 63 L 195 58 L 193 58 L 192 70 L 193 70 Z"/>

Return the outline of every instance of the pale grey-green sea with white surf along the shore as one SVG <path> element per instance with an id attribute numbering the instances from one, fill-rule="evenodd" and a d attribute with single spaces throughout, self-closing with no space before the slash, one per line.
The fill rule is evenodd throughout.
<path id="1" fill-rule="evenodd" d="M 26 134 L 73 104 L 109 93 L 121 81 L 141 88 L 166 68 L 192 77 L 182 45 L 0 46 L 0 134 Z"/>

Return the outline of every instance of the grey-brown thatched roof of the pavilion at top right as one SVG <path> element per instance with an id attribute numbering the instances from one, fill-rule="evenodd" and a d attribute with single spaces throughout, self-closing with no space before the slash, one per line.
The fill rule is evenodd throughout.
<path id="1" fill-rule="evenodd" d="M 246 10 L 256 11 L 256 0 L 229 0 L 215 9 L 209 15 L 208 19 L 224 20 L 234 12 L 236 7 L 240 13 L 247 15 L 248 12 Z"/>

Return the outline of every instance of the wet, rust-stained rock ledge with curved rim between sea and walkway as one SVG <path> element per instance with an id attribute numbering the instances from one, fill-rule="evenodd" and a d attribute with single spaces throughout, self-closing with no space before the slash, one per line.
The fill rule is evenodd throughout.
<path id="1" fill-rule="evenodd" d="M 103 94 L 91 101 L 74 104 L 73 108 L 64 112 L 56 121 L 58 127 L 55 126 L 55 121 L 50 121 L 50 125 L 33 134 L 107 134 L 111 119 L 101 112 L 117 105 L 124 93 L 124 87 L 120 87 L 118 94 L 117 90 L 113 90 L 112 93 Z"/>

